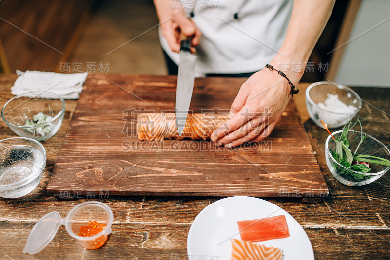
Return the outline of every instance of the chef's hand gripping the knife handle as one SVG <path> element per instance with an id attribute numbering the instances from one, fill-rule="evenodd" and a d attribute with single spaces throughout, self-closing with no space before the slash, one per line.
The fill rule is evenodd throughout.
<path id="1" fill-rule="evenodd" d="M 169 47 L 174 52 L 180 52 L 180 31 L 187 37 L 192 36 L 191 52 L 195 53 L 194 46 L 200 42 L 202 35 L 195 23 L 185 15 L 184 8 L 180 3 L 180 8 L 172 8 L 170 0 L 154 0 L 162 35 L 167 39 Z"/>

